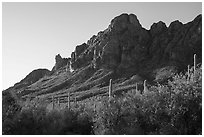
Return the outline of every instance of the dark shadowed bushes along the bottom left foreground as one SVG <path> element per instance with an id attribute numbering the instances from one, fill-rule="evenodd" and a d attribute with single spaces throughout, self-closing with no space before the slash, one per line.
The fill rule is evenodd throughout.
<path id="1" fill-rule="evenodd" d="M 88 115 L 72 110 L 46 111 L 45 106 L 30 106 L 15 115 L 9 127 L 12 135 L 91 134 L 92 122 Z"/>

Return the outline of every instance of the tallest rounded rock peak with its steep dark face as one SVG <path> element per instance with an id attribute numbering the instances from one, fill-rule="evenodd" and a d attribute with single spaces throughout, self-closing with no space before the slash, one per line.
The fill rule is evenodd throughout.
<path id="1" fill-rule="evenodd" d="M 95 64 L 97 68 L 130 67 L 135 64 L 134 61 L 143 60 L 144 57 L 140 57 L 146 54 L 148 40 L 148 31 L 142 28 L 137 17 L 133 14 L 122 14 L 114 18 L 105 31 L 99 32 L 97 36 L 94 35 L 87 42 L 88 48 L 77 60 L 72 53 L 73 68 L 89 63 Z M 96 49 L 95 55 L 94 49 Z"/>

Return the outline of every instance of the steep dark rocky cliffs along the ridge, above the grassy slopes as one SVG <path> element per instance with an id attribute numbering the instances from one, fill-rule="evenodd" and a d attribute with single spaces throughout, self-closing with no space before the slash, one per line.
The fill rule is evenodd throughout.
<path id="1" fill-rule="evenodd" d="M 106 30 L 76 46 L 71 58 L 56 57 L 55 69 L 67 65 L 68 60 L 74 70 L 89 64 L 133 73 L 166 65 L 183 68 L 192 64 L 193 54 L 201 62 L 201 49 L 201 15 L 187 24 L 174 21 L 169 27 L 159 21 L 146 30 L 134 14 L 122 14 Z"/>

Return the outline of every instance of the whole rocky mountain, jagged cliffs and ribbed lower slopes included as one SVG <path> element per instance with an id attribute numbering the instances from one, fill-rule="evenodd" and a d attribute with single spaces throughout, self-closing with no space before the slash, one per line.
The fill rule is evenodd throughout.
<path id="1" fill-rule="evenodd" d="M 48 70 L 40 74 L 32 72 L 14 89 L 22 96 L 63 95 L 70 91 L 84 99 L 106 94 L 110 78 L 115 92 L 117 87 L 124 91 L 144 79 L 148 84 L 165 81 L 192 65 L 194 54 L 197 63 L 201 63 L 202 15 L 186 24 L 174 21 L 169 27 L 159 21 L 147 30 L 136 15 L 121 14 L 107 29 L 76 46 L 70 58 L 57 55 L 50 73 Z M 50 75 L 43 77 L 45 74 Z M 25 81 L 28 84 L 23 89 L 15 88 Z"/>

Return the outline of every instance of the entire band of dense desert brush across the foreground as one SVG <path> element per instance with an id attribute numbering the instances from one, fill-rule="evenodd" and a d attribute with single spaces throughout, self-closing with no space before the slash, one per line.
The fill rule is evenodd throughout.
<path id="1" fill-rule="evenodd" d="M 48 110 L 45 102 L 24 105 L 3 93 L 3 134 L 202 134 L 202 67 L 175 74 L 140 94 L 135 89 L 97 101 Z"/>

